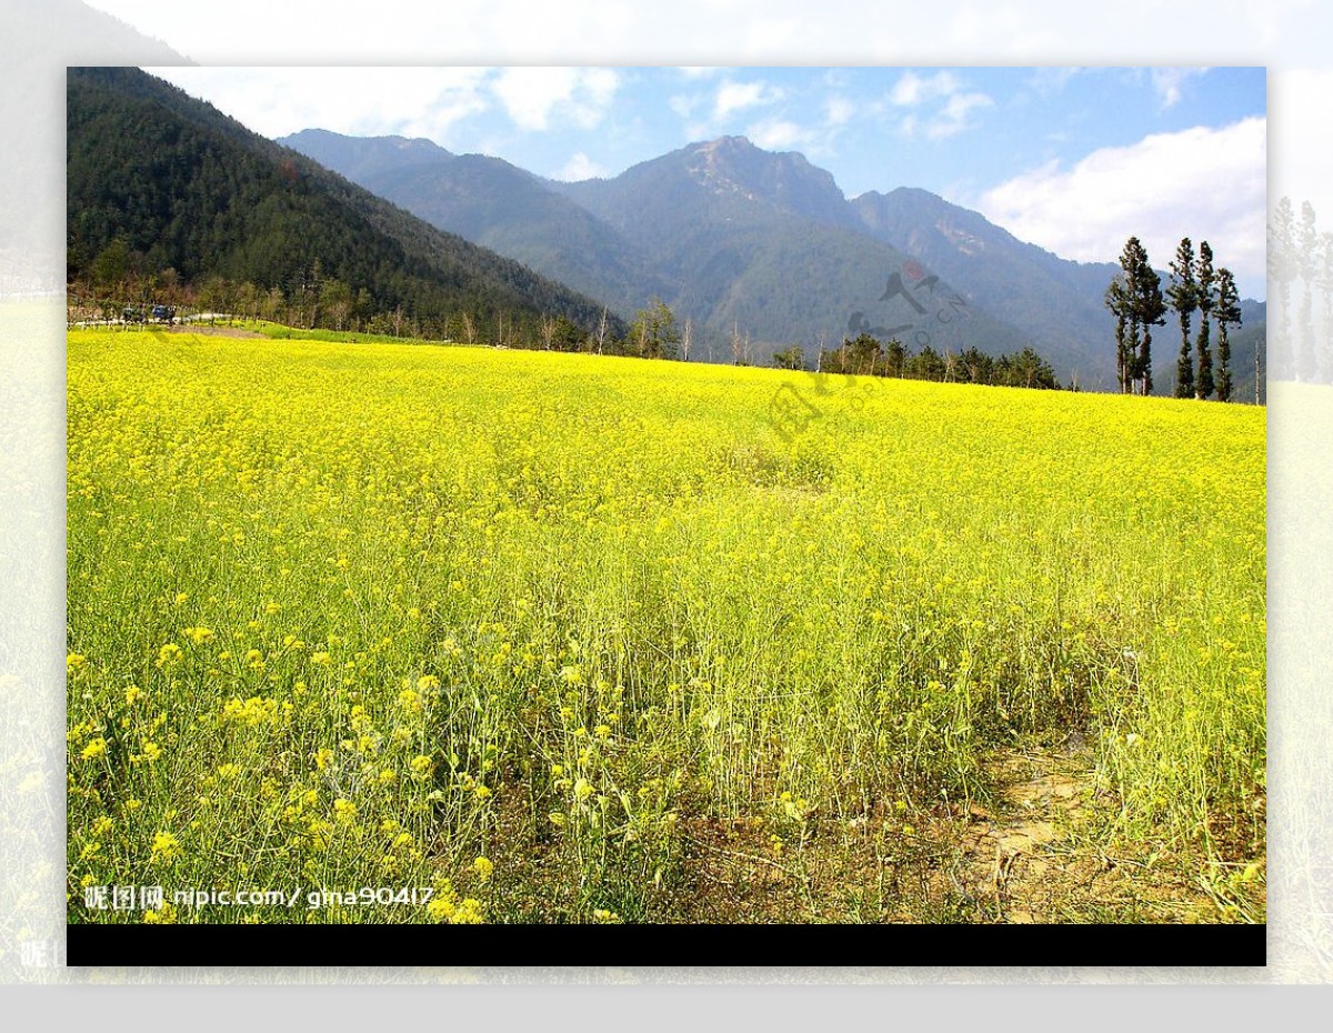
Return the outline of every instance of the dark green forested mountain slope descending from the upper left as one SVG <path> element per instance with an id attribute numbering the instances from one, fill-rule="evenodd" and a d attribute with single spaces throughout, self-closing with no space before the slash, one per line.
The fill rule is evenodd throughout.
<path id="1" fill-rule="evenodd" d="M 592 329 L 603 307 L 444 233 L 211 105 L 135 68 L 71 68 L 67 81 L 72 280 L 117 267 L 221 276 L 352 304 L 401 307 L 433 327 L 471 315 L 519 331 L 545 316 Z M 623 325 L 616 327 L 617 332 Z"/>

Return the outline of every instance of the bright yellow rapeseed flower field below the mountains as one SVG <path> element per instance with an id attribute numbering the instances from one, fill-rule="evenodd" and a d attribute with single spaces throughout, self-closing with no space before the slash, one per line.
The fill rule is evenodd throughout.
<path id="1" fill-rule="evenodd" d="M 1261 920 L 1264 435 L 1165 399 L 71 332 L 71 921 L 143 920 L 93 884 L 929 918 L 884 873 L 1037 746 L 1084 768 L 1074 854 Z"/>

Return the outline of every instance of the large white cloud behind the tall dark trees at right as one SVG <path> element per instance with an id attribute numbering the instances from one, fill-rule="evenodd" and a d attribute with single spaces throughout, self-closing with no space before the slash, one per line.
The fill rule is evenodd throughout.
<path id="1" fill-rule="evenodd" d="M 1264 296 L 1266 121 L 1197 127 L 1056 161 L 981 196 L 974 207 L 1020 240 L 1078 261 L 1114 261 L 1137 236 L 1165 268 L 1181 237 L 1206 240 L 1242 293 Z"/>

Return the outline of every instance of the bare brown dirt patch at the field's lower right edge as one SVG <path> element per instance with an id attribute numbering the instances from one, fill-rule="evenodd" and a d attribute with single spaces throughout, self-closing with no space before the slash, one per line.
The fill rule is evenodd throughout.
<path id="1" fill-rule="evenodd" d="M 694 821 L 685 829 L 686 904 L 704 922 L 1218 922 L 1188 866 L 1113 856 L 1097 845 L 1092 752 L 1058 745 L 997 750 L 984 762 L 989 804 L 905 818 L 877 813 L 812 824 L 774 854 L 766 828 Z M 914 822 L 914 824 L 913 824 Z"/>

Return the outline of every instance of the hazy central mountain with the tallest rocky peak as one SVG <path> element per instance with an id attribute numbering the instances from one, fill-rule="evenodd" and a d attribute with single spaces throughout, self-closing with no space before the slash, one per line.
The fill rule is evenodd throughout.
<path id="1" fill-rule="evenodd" d="M 724 355 L 733 328 L 752 333 L 760 355 L 836 347 L 860 329 L 916 351 L 958 351 L 974 335 L 996 353 L 1024 344 L 990 315 L 949 307 L 957 291 L 946 280 L 926 284 L 928 269 L 913 277 L 912 256 L 862 232 L 833 177 L 801 155 L 728 136 L 612 180 L 551 185 L 652 255 L 678 284 L 673 304 Z"/>

